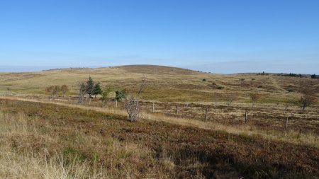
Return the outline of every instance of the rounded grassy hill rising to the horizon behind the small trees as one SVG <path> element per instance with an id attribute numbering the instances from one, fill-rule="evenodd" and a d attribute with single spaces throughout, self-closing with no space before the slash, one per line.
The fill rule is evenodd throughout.
<path id="1" fill-rule="evenodd" d="M 121 90 L 132 88 L 141 79 L 149 82 L 143 98 L 159 101 L 212 101 L 213 96 L 224 100 L 226 93 L 237 93 L 237 101 L 249 102 L 249 93 L 262 95 L 261 103 L 279 103 L 300 96 L 298 86 L 308 81 L 309 88 L 319 93 L 319 81 L 296 77 L 257 74 L 208 74 L 188 69 L 153 65 L 130 65 L 97 69 L 54 69 L 38 72 L 0 73 L 1 93 L 45 93 L 52 85 L 67 84 L 77 93 L 80 82 L 91 76 L 101 86 L 113 86 Z M 223 89 L 212 88 L 221 86 Z M 288 93 L 287 90 L 294 92 Z M 214 95 L 215 94 L 215 95 Z"/>

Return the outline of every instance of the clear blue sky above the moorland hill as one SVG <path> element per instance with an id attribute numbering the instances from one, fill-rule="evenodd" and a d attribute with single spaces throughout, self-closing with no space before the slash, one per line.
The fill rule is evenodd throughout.
<path id="1" fill-rule="evenodd" d="M 319 1 L 0 1 L 0 71 L 122 64 L 319 74 Z"/>

